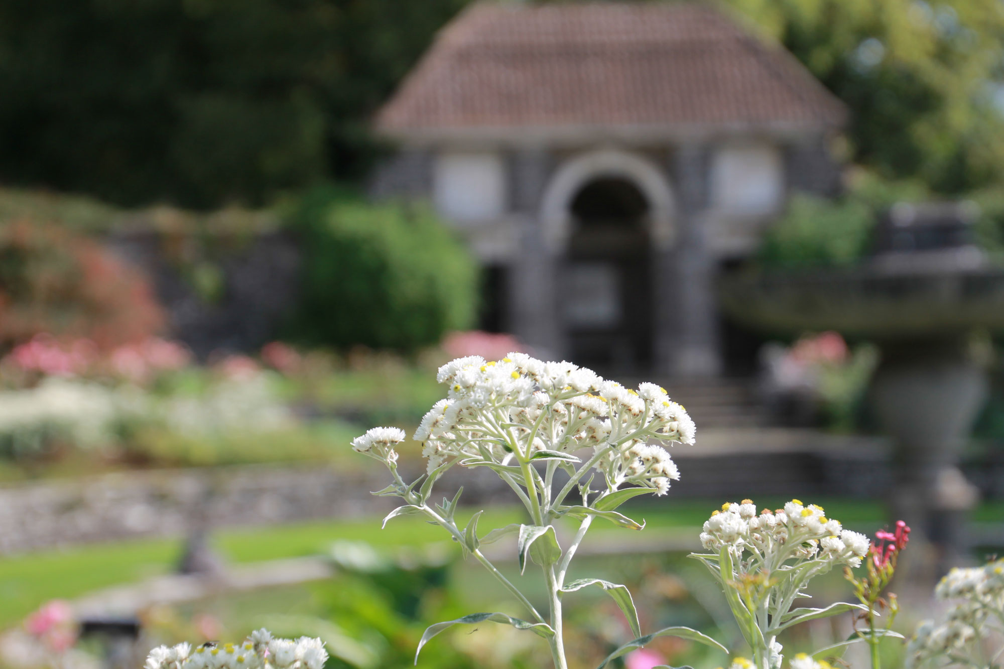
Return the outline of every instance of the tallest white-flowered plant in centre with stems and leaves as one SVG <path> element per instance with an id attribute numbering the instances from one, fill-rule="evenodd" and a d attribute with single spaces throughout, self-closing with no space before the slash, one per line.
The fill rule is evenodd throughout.
<path id="1" fill-rule="evenodd" d="M 481 563 L 522 604 L 532 620 L 500 613 L 473 614 L 430 627 L 419 650 L 451 625 L 491 620 L 543 637 L 556 669 L 566 669 L 562 598 L 591 585 L 613 597 L 632 631 L 642 637 L 626 588 L 597 579 L 566 583 L 565 576 L 593 518 L 641 529 L 643 524 L 615 509 L 639 494 L 665 495 L 672 481 L 680 478 L 664 446 L 694 443 L 694 422 L 684 408 L 654 384 L 632 390 L 571 363 L 543 362 L 519 353 L 500 361 L 460 358 L 440 368 L 437 380 L 447 387 L 447 397 L 425 415 L 414 436 L 428 460 L 423 477 L 412 483 L 402 479 L 396 447 L 405 440 L 405 433 L 397 428 L 373 428 L 353 440 L 352 448 L 390 469 L 394 482 L 375 494 L 398 496 L 406 502 L 388 515 L 385 524 L 398 515 L 419 513 L 441 525 L 465 554 Z M 531 522 L 481 534 L 479 511 L 466 527 L 459 526 L 454 514 L 460 492 L 453 500 L 444 498 L 442 504 L 429 503 L 435 482 L 455 465 L 495 471 L 526 507 Z M 578 493 L 578 500 L 568 499 L 573 492 Z M 574 538 L 564 548 L 558 544 L 553 525 L 561 517 L 579 522 Z M 526 569 L 527 558 L 543 571 L 550 603 L 546 615 L 481 551 L 485 543 L 510 533 L 517 535 L 521 571 Z M 656 633 L 662 634 L 725 650 L 687 628 Z M 628 644 L 609 659 L 637 645 Z"/>

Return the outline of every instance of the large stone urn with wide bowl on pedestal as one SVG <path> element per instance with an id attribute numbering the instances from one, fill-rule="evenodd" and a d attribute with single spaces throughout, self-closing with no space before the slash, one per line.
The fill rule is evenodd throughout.
<path id="1" fill-rule="evenodd" d="M 871 405 L 894 441 L 885 496 L 939 566 L 957 556 L 977 498 L 957 466 L 988 387 L 989 346 L 974 343 L 1004 331 L 1004 269 L 968 247 L 946 251 L 878 254 L 851 268 L 734 272 L 719 285 L 725 311 L 751 329 L 835 330 L 880 347 Z"/>

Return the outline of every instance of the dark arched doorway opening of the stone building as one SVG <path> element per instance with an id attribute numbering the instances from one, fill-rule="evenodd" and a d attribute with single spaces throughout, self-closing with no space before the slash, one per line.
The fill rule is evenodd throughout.
<path id="1" fill-rule="evenodd" d="M 600 370 L 653 363 L 650 203 L 633 180 L 597 176 L 568 204 L 558 289 L 571 360 Z"/>

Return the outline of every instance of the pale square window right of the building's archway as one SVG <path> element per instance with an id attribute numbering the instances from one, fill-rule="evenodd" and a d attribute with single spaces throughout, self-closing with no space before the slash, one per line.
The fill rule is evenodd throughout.
<path id="1" fill-rule="evenodd" d="M 770 146 L 723 147 L 711 174 L 712 203 L 739 215 L 776 211 L 784 195 L 780 152 Z"/>

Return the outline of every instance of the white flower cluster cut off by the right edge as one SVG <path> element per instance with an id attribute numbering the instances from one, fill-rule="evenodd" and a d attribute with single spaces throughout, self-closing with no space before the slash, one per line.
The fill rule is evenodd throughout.
<path id="1" fill-rule="evenodd" d="M 990 616 L 1004 620 L 1004 560 L 984 567 L 956 568 L 935 588 L 940 600 L 960 600 L 949 609 L 945 622 L 925 621 L 907 646 L 909 668 L 951 657 L 967 657 L 969 644 L 983 636 Z"/>

